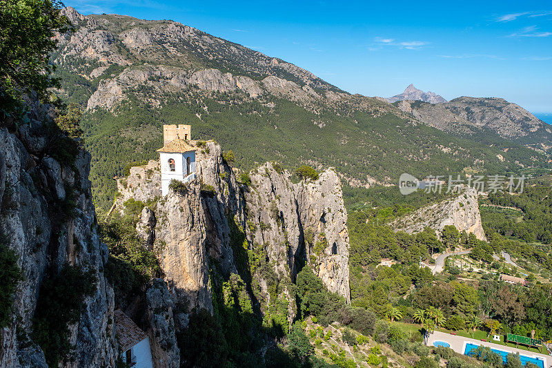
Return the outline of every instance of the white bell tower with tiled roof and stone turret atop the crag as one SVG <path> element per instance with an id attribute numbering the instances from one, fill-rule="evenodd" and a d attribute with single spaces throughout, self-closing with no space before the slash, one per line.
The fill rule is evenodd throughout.
<path id="1" fill-rule="evenodd" d="M 186 140 L 190 138 L 190 126 L 164 126 L 163 133 L 164 146 L 157 152 L 161 163 L 161 193 L 165 196 L 171 180 L 186 183 L 195 178 L 195 148 Z M 181 139 L 179 133 L 186 139 Z"/>

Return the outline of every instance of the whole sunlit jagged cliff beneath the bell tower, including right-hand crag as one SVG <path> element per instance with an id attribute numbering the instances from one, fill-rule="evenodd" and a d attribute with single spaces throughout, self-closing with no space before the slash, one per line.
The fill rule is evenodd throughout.
<path id="1" fill-rule="evenodd" d="M 150 161 L 147 167 L 157 165 Z M 279 278 L 295 280 L 299 267 L 309 263 L 329 290 L 350 299 L 348 232 L 339 177 L 328 170 L 315 182 L 293 184 L 289 173 L 275 166 L 264 164 L 251 173 L 250 185 L 239 184 L 223 161 L 220 146 L 207 142 L 197 151 L 197 179 L 157 198 L 155 226 L 144 233 L 155 233 L 152 249 L 170 293 L 188 311 L 213 310 L 209 268 L 215 261 L 224 275 L 240 271 L 235 252 L 246 251 L 244 244 L 266 251 Z M 158 169 L 150 170 L 139 184 L 136 173 L 141 170 L 130 170 L 126 188 L 119 181 L 119 208 L 133 193 L 142 193 L 139 188 L 146 182 L 160 188 Z M 143 212 L 144 216 L 150 217 Z M 145 222 L 143 218 L 139 224 Z M 237 240 L 240 234 L 243 239 Z"/>

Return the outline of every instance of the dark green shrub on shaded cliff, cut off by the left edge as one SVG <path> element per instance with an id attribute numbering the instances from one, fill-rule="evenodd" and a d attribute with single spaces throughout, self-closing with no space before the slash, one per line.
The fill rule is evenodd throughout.
<path id="1" fill-rule="evenodd" d="M 23 273 L 17 266 L 17 254 L 0 243 L 0 328 L 7 327 L 12 316 L 13 293 Z"/>

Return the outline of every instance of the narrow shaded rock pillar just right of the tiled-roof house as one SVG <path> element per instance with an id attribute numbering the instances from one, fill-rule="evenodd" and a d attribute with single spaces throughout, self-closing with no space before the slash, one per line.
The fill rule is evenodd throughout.
<path id="1" fill-rule="evenodd" d="M 175 304 L 164 280 L 152 280 L 151 286 L 146 291 L 146 305 L 153 366 L 155 368 L 180 367 L 180 350 L 177 346 L 173 316 Z"/>

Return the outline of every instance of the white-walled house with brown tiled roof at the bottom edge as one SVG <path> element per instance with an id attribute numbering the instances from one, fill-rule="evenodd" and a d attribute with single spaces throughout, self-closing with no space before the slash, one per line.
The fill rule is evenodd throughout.
<path id="1" fill-rule="evenodd" d="M 153 368 L 150 339 L 123 311 L 113 312 L 121 358 L 132 368 Z"/>

